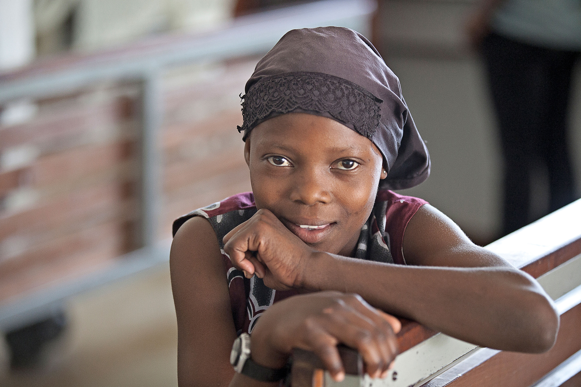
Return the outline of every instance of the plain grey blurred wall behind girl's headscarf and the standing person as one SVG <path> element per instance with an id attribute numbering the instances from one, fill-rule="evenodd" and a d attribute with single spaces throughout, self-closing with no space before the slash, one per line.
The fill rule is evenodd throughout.
<path id="1" fill-rule="evenodd" d="M 477 244 L 500 236 L 502 161 L 496 118 L 480 57 L 464 23 L 475 1 L 380 1 L 381 52 L 400 78 L 432 173 L 407 194 L 425 198 Z M 569 145 L 581 182 L 581 77 L 573 77 Z M 547 176 L 533 176 L 532 219 L 548 210 Z M 579 189 L 579 185 L 578 185 Z M 578 191 L 578 196 L 581 192 Z"/>

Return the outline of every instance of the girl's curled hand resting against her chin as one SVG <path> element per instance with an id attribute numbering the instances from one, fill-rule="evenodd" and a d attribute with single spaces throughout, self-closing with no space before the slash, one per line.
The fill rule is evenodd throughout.
<path id="1" fill-rule="evenodd" d="M 275 290 L 300 287 L 303 271 L 316 252 L 291 233 L 278 218 L 259 209 L 224 236 L 224 252 L 246 278 L 253 274 Z"/>

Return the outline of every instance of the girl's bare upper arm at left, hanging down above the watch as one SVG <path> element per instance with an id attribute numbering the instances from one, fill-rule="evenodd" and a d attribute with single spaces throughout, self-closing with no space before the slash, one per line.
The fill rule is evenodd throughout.
<path id="1" fill-rule="evenodd" d="M 236 339 L 226 272 L 210 223 L 195 216 L 178 230 L 170 252 L 178 323 L 178 384 L 227 386 Z"/>

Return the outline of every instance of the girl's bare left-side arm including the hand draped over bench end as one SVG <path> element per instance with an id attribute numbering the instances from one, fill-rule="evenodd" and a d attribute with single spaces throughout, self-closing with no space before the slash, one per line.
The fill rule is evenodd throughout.
<path id="1" fill-rule="evenodd" d="M 171 285 L 178 322 L 178 384 L 183 386 L 274 387 L 235 374 L 229 363 L 236 338 L 226 270 L 216 234 L 195 217 L 175 235 L 170 253 Z M 386 375 L 397 353 L 397 319 L 368 305 L 360 296 L 317 292 L 272 305 L 252 331 L 252 359 L 281 368 L 293 348 L 311 350 L 336 380 L 344 375 L 336 345 L 356 348 L 365 371 Z"/>

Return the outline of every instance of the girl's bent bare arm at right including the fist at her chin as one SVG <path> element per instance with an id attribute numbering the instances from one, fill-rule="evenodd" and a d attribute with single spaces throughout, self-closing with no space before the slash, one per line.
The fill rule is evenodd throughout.
<path id="1" fill-rule="evenodd" d="M 249 274 L 256 268 L 272 288 L 354 292 L 376 308 L 481 346 L 520 352 L 553 346 L 559 319 L 540 285 L 473 244 L 431 205 L 407 225 L 407 266 L 314 251 L 285 230 L 261 209 L 225 236 L 224 249 L 235 266 Z"/>

